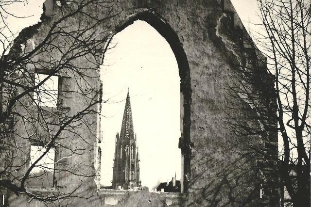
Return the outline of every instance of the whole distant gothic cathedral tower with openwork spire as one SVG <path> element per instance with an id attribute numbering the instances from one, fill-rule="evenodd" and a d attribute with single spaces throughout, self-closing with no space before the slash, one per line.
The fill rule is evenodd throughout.
<path id="1" fill-rule="evenodd" d="M 112 188 L 123 189 L 140 186 L 139 155 L 134 136 L 133 118 L 129 91 L 123 113 L 121 132 L 116 134 L 116 149 L 113 158 Z"/>

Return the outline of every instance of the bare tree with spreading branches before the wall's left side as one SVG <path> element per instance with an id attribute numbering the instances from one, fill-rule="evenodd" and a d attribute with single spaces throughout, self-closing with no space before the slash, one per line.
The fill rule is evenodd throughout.
<path id="1" fill-rule="evenodd" d="M 47 1 L 53 4 L 52 18 L 47 16 L 51 5 L 44 6 L 41 22 L 12 38 L 6 18 L 19 17 L 5 6 L 20 2 L 27 1 L 0 3 L 0 191 L 60 205 L 78 196 L 75 191 L 82 183 L 71 191 L 55 191 L 58 174 L 95 176 L 84 171 L 91 163 L 81 167 L 66 159 L 94 147 L 82 131 L 99 137 L 93 127 L 103 102 L 99 65 L 110 36 L 100 28 L 117 11 L 109 0 Z M 90 9 L 101 10 L 94 14 L 102 16 L 90 14 Z M 74 97 L 80 102 L 68 104 Z M 36 193 L 30 186 L 47 193 Z"/>

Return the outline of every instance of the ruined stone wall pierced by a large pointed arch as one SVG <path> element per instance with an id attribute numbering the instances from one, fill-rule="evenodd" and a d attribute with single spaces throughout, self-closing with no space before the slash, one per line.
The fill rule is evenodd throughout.
<path id="1" fill-rule="evenodd" d="M 70 7 L 70 4 L 65 6 Z M 113 34 L 136 19 L 145 20 L 167 39 L 176 56 L 184 109 L 181 148 L 185 159 L 184 172 L 187 175 L 186 189 L 183 194 L 155 193 L 147 189 L 97 190 L 94 180 L 80 179 L 64 173 L 59 175 L 62 191 L 73 190 L 82 184 L 76 194 L 92 196 L 89 199 L 70 200 L 70 206 L 277 206 L 278 192 L 275 189 L 268 189 L 267 192 L 262 189 L 264 193 L 260 198 L 260 184 L 263 181 L 258 172 L 258 158 L 247 153 L 250 141 L 235 136 L 224 125 L 227 107 L 232 101 L 226 88 L 239 81 L 232 64 L 227 60 L 230 57 L 237 63 L 242 61 L 245 52 L 243 36 L 247 36 L 229 0 L 118 0 L 115 1 L 114 8 L 119 14 L 102 25 L 103 30 Z M 88 12 L 104 16 L 107 11 L 90 7 Z M 60 15 L 56 4 L 53 14 Z M 68 24 L 74 25 L 79 21 L 82 20 L 76 19 L 75 22 L 73 19 Z M 50 24 L 49 21 L 44 22 L 32 40 L 40 42 Z M 234 38 L 229 38 L 232 32 L 235 32 Z M 61 43 L 61 39 L 59 42 Z M 81 57 L 79 64 L 83 63 L 84 57 Z M 96 71 L 89 73 L 94 75 Z M 68 90 L 77 90 L 70 77 L 66 85 Z M 99 86 L 98 79 L 94 81 L 94 87 Z M 64 104 L 75 111 L 86 103 L 79 96 L 73 96 L 65 99 Z M 94 115 L 90 115 L 88 119 L 97 120 Z M 90 143 L 96 145 L 96 137 L 89 136 L 87 130 L 83 132 L 83 128 L 79 130 Z M 276 135 L 272 138 L 272 143 L 276 144 Z M 252 142 L 261 144 L 259 138 L 253 138 Z M 78 140 L 70 144 L 80 146 Z M 86 153 L 67 159 L 66 162 L 69 165 L 85 163 L 88 167 L 84 172 L 95 175 L 95 169 L 91 166 L 95 160 L 96 148 L 91 145 L 84 147 L 87 149 Z M 277 155 L 277 151 L 269 153 Z M 272 157 L 276 159 L 276 156 Z M 10 206 L 23 206 L 27 201 L 28 198 L 15 195 L 9 199 Z M 62 205 L 66 202 L 68 201 Z M 28 205 L 43 206 L 37 201 L 31 201 Z"/>

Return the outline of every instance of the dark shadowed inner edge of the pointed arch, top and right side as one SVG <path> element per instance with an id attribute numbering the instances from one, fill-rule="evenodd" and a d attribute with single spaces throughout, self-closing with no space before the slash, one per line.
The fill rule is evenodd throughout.
<path id="1" fill-rule="evenodd" d="M 115 34 L 121 32 L 126 27 L 130 26 L 136 20 L 142 20 L 152 26 L 170 45 L 177 65 L 180 77 L 180 130 L 181 137 L 179 139 L 178 147 L 181 149 L 182 154 L 182 166 L 181 166 L 181 192 L 188 191 L 188 177 L 190 177 L 190 155 L 191 155 L 191 142 L 190 142 L 190 106 L 191 106 L 191 84 L 190 84 L 190 67 L 187 59 L 187 55 L 180 43 L 179 37 L 173 28 L 168 24 L 164 18 L 157 15 L 154 11 L 148 10 L 138 13 L 135 16 L 131 16 L 125 21 L 122 21 L 115 31 L 112 32 L 106 48 L 108 48 L 112 38 Z M 104 57 L 103 57 L 104 61 Z M 177 146 L 176 146 L 177 147 Z"/>

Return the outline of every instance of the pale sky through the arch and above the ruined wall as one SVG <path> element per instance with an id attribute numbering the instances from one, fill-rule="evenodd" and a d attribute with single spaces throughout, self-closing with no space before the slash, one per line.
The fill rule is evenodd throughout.
<path id="1" fill-rule="evenodd" d="M 28 18 L 9 18 L 12 31 L 39 21 L 43 0 L 10 6 L 10 12 Z M 246 28 L 258 22 L 256 0 L 232 0 Z M 102 119 L 102 184 L 111 185 L 115 135 L 121 121 L 129 87 L 134 131 L 140 154 L 140 179 L 150 189 L 175 174 L 180 178 L 180 89 L 176 60 L 166 40 L 150 25 L 136 21 L 113 39 L 115 48 L 105 55 L 101 67 L 104 82 Z"/>

